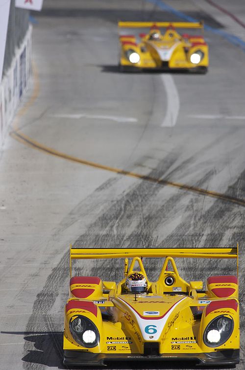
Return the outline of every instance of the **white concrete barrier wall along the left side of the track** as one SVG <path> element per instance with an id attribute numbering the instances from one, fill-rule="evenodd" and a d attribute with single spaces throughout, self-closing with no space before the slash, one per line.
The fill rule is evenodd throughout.
<path id="1" fill-rule="evenodd" d="M 31 74 L 31 35 L 30 25 L 0 83 L 0 147 L 28 86 Z"/>

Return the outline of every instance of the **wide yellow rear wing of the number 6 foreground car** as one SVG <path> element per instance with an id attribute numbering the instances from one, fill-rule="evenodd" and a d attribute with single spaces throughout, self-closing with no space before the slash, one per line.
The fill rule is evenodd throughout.
<path id="1" fill-rule="evenodd" d="M 235 248 L 73 248 L 70 245 L 70 274 L 73 259 L 130 257 L 236 258 L 238 276 L 238 244 Z"/>

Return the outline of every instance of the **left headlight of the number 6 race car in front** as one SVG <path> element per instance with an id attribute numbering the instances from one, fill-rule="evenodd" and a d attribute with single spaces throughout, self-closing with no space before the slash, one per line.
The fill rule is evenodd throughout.
<path id="1" fill-rule="evenodd" d="M 95 324 L 82 315 L 73 316 L 70 320 L 70 332 L 73 339 L 83 347 L 96 347 L 99 342 L 99 332 Z"/>

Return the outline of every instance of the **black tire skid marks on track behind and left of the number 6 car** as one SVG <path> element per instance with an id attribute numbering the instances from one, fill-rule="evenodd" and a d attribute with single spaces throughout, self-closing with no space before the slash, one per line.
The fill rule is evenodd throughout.
<path id="1" fill-rule="evenodd" d="M 178 156 L 170 157 L 159 163 L 157 168 L 150 172 L 150 175 L 163 175 L 177 160 Z M 208 172 L 198 182 L 198 185 L 205 184 L 212 178 L 213 172 Z M 108 192 L 113 185 L 117 186 L 117 180 L 108 180 L 102 184 L 95 193 L 99 193 L 98 199 L 103 197 L 103 192 Z M 239 187 L 245 188 L 245 172 L 241 174 L 235 184 L 230 187 L 227 192 L 230 192 Z M 161 193 L 160 193 L 161 192 Z M 220 200 L 215 200 L 211 206 L 200 216 L 198 212 L 203 207 L 203 197 L 197 197 L 190 193 L 175 191 L 172 196 L 164 197 L 164 188 L 158 184 L 150 184 L 141 181 L 122 193 L 118 200 L 112 204 L 107 204 L 103 210 L 98 213 L 94 222 L 92 222 L 85 233 L 83 233 L 74 243 L 75 247 L 151 247 L 151 246 L 201 246 L 214 243 L 220 245 L 222 242 L 225 245 L 231 245 L 236 240 L 240 239 L 240 243 L 245 240 L 243 231 L 245 215 L 241 211 L 241 207 L 236 204 L 224 204 Z M 86 201 L 89 203 L 88 197 Z M 161 198 L 162 197 L 162 198 Z M 157 202 L 154 201 L 157 199 Z M 211 199 L 210 199 L 211 201 Z M 68 228 L 71 222 L 76 222 L 77 216 L 86 217 L 86 210 L 79 205 L 76 210 L 63 220 L 63 227 Z M 154 236 L 154 232 L 161 226 L 171 222 L 177 214 L 182 213 L 183 221 L 172 230 L 172 232 L 164 237 L 161 241 Z M 72 219 L 72 221 L 71 221 Z M 227 230 L 227 225 L 230 224 L 230 235 L 224 237 Z M 205 230 L 209 229 L 205 234 Z M 163 232 L 164 233 L 164 232 Z M 243 259 L 243 256 L 242 256 Z M 190 264 L 189 261 L 182 259 L 178 260 L 179 270 L 183 277 L 188 277 L 189 280 L 195 276 L 195 270 L 200 272 L 201 278 L 207 277 L 212 269 L 217 267 L 216 261 L 201 260 L 198 267 Z M 104 279 L 118 280 L 119 274 L 122 275 L 122 261 L 114 261 L 113 267 L 111 261 L 104 261 L 103 265 L 99 266 L 96 261 L 92 268 L 86 266 L 86 271 L 75 266 L 76 273 L 86 275 L 102 276 Z M 148 264 L 148 270 L 156 271 L 160 267 L 159 263 L 152 260 Z M 229 269 L 230 265 L 225 264 L 223 270 Z M 90 270 L 89 270 L 90 268 Z M 221 269 L 221 270 L 222 270 Z M 88 270 L 88 271 L 87 271 Z M 222 270 L 222 271 L 223 271 Z M 120 276 L 121 278 L 122 276 Z M 55 334 L 56 327 L 60 327 L 60 323 L 52 325 L 53 314 L 51 309 L 55 300 L 69 279 L 69 252 L 66 252 L 60 259 L 58 265 L 52 270 L 47 282 L 42 291 L 37 295 L 33 305 L 33 314 L 28 320 L 26 332 L 41 333 L 39 336 L 26 337 L 27 341 L 24 346 L 25 356 L 23 358 L 25 370 L 41 370 L 46 366 L 62 365 L 62 335 Z M 244 285 L 244 278 L 241 279 L 241 285 Z M 241 286 L 240 285 L 240 286 Z M 244 289 L 241 291 L 244 297 Z M 65 297 L 64 301 L 65 302 Z M 244 313 L 244 308 L 241 310 Z M 63 317 L 59 314 L 57 317 Z M 244 326 L 244 321 L 242 321 Z M 47 336 L 42 333 L 49 333 Z M 32 342 L 35 341 L 35 346 L 41 351 L 33 351 Z M 27 354 L 26 354 L 27 353 Z"/>

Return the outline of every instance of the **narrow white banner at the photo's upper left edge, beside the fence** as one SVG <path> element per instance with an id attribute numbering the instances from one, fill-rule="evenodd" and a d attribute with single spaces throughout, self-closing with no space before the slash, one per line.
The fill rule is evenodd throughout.
<path id="1" fill-rule="evenodd" d="M 10 0 L 0 0 L 0 82 L 5 54 Z"/>

